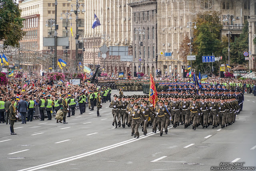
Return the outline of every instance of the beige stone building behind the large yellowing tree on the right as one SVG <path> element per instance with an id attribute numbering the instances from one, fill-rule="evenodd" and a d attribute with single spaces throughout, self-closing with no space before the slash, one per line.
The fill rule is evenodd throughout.
<path id="1" fill-rule="evenodd" d="M 190 38 L 190 29 L 186 28 L 187 23 L 196 22 L 198 12 L 210 13 L 216 10 L 220 12 L 221 21 L 229 14 L 230 25 L 228 26 L 228 22 L 222 22 L 221 34 L 228 36 L 229 27 L 230 37 L 234 40 L 234 36 L 242 33 L 244 21 L 250 18 L 250 11 L 252 11 L 250 8 L 252 8 L 252 0 L 158 0 L 157 53 L 172 52 L 171 58 L 173 58 L 158 55 L 158 68 L 163 72 L 167 70 L 168 74 L 182 74 L 186 64 L 180 62 L 182 61 L 179 52 L 180 44 L 185 36 Z M 233 18 L 235 21 L 232 21 Z M 193 32 L 194 25 L 192 26 L 192 38 Z"/>

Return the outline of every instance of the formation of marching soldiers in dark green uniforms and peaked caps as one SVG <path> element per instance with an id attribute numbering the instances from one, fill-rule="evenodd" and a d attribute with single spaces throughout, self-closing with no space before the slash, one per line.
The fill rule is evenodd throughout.
<path id="1" fill-rule="evenodd" d="M 238 94 L 239 93 L 239 94 Z M 228 96 L 206 96 L 206 95 L 162 95 L 155 107 L 149 101 L 149 96 L 117 96 L 111 101 L 114 117 L 112 125 L 124 128 L 132 126 L 132 134 L 139 137 L 138 127 L 142 126 L 142 132 L 147 134 L 147 127 L 153 126 L 160 131 L 160 136 L 168 133 L 170 123 L 176 128 L 184 125 L 184 128 L 192 125 L 192 129 L 202 125 L 202 128 L 212 126 L 212 129 L 232 125 L 236 121 L 236 115 L 240 114 L 243 101 L 238 103 L 237 97 L 241 92 Z"/>

